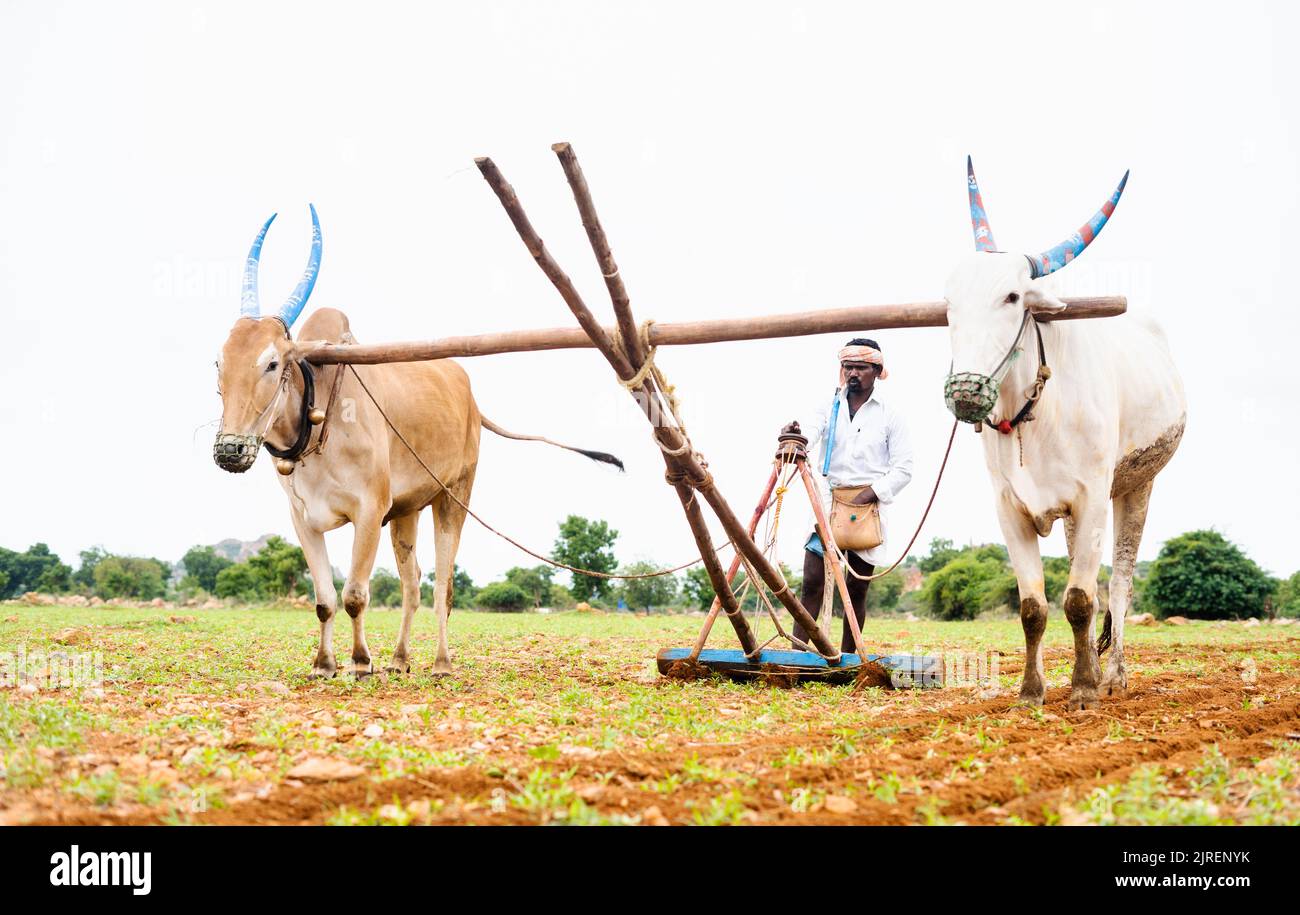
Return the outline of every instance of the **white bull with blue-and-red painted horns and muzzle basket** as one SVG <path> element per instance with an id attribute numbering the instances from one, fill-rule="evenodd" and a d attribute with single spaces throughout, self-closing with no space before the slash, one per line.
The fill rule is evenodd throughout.
<path id="1" fill-rule="evenodd" d="M 1127 689 L 1124 613 L 1134 565 L 1152 482 L 1178 448 L 1187 400 L 1153 321 L 1136 315 L 1032 320 L 1065 307 L 1044 289 L 1043 277 L 1087 247 L 1123 182 L 1079 233 L 1026 256 L 996 250 L 974 170 L 968 181 L 978 251 L 953 270 L 945 289 L 953 348 L 945 398 L 958 419 L 984 426 L 984 460 L 1019 585 L 1026 652 L 1020 699 L 1043 703 L 1048 602 L 1037 538 L 1063 519 L 1070 577 L 1062 604 L 1075 650 L 1069 707 L 1088 708 L 1098 694 Z M 1114 558 L 1100 650 L 1109 643 L 1112 654 L 1102 676 L 1093 629 L 1108 504 L 1114 506 Z"/>

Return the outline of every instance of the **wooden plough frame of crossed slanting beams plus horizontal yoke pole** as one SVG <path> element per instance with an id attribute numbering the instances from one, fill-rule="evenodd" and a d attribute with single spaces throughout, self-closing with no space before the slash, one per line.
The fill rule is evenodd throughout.
<path id="1" fill-rule="evenodd" d="M 740 639 L 744 658 L 750 663 L 759 663 L 759 645 L 745 615 L 736 602 L 731 589 L 733 571 L 728 573 L 718 560 L 718 552 L 712 538 L 705 524 L 703 512 L 699 507 L 702 498 L 718 516 L 727 537 L 737 551 L 737 561 L 744 559 L 757 576 L 760 584 L 771 590 L 772 595 L 780 600 L 794 620 L 809 633 L 812 647 L 829 668 L 845 668 L 849 658 L 841 652 L 816 625 L 812 615 L 803 607 L 800 599 L 790 591 L 781 572 L 768 561 L 767 556 L 754 542 L 751 525 L 745 525 L 732 511 L 727 499 L 718 491 L 712 474 L 702 465 L 698 456 L 690 447 L 682 430 L 676 425 L 664 425 L 659 421 L 663 411 L 658 404 L 667 403 L 667 391 L 659 390 L 654 373 L 644 372 L 646 350 L 642 337 L 638 334 L 636 321 L 632 316 L 630 298 L 619 274 L 618 263 L 610 250 L 610 242 L 595 213 L 592 194 L 588 188 L 582 169 L 577 156 L 568 143 L 556 143 L 551 147 L 559 157 L 560 166 L 573 191 L 573 200 L 577 204 L 582 218 L 582 227 L 592 243 L 597 265 L 604 277 L 606 289 L 614 305 L 615 326 L 602 326 L 597 321 L 592 309 L 588 308 L 582 296 L 573 286 L 568 274 L 560 268 L 555 259 L 546 250 L 541 237 L 533 229 L 528 214 L 524 212 L 515 188 L 507 183 L 495 162 L 490 159 L 476 159 L 474 162 L 484 178 L 491 186 L 502 207 L 506 209 L 510 221 L 519 233 L 520 239 L 528 252 L 537 261 L 542 273 L 551 281 L 577 320 L 578 329 L 549 329 L 507 331 L 498 334 L 482 334 L 478 337 L 458 337 L 430 342 L 416 343 L 384 343 L 384 344 L 330 344 L 309 343 L 302 350 L 303 357 L 316 364 L 330 363 L 400 363 L 426 359 L 447 359 L 452 356 L 480 356 L 502 352 L 521 352 L 537 350 L 559 350 L 575 347 L 595 347 L 610 363 L 619 380 L 625 382 L 629 394 L 633 395 L 641 407 L 646 420 L 651 424 L 653 434 L 663 454 L 664 478 L 673 487 L 681 502 L 681 509 L 686 515 L 690 533 L 699 548 L 701 559 L 708 573 L 718 602 L 731 621 L 736 636 Z M 1066 299 L 1069 308 L 1057 315 L 1044 315 L 1041 320 L 1070 320 L 1084 317 L 1105 317 L 1121 315 L 1127 308 L 1123 296 L 1105 296 L 1088 299 Z M 927 302 L 898 305 L 864 305 L 857 308 L 838 308 L 794 315 L 777 315 L 750 320 L 724 320 L 724 321 L 698 321 L 690 324 L 655 324 L 651 325 L 645 338 L 650 346 L 670 346 L 688 343 L 711 343 L 738 339 L 762 339 L 772 337 L 798 337 L 805 334 L 823 334 L 831 331 L 863 331 L 881 328 L 933 328 L 948 322 L 946 308 L 941 302 Z M 634 385 L 628 385 L 638 380 Z M 698 498 L 697 498 L 698 496 Z M 820 502 L 814 499 L 814 509 L 820 509 Z M 755 519 L 757 520 L 757 519 Z M 824 524 L 819 525 L 824 528 Z M 757 585 L 758 582 L 755 582 Z M 842 585 L 842 581 L 838 582 Z M 828 582 L 829 586 L 829 582 Z M 867 655 L 862 646 L 861 633 L 857 630 L 857 620 L 848 612 L 852 621 L 850 628 L 855 638 L 858 658 L 852 659 L 854 664 L 866 663 Z M 712 623 L 710 616 L 708 624 Z M 699 658 L 707 628 L 701 633 L 701 639 L 692 650 L 690 660 Z M 764 654 L 801 654 L 801 652 L 764 652 Z"/>

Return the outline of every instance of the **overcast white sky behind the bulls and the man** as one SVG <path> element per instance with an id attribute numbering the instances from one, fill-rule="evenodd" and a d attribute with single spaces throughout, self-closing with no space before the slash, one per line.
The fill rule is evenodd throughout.
<path id="1" fill-rule="evenodd" d="M 16 3 L 0 8 L 0 545 L 179 558 L 292 538 L 265 455 L 211 459 L 213 360 L 263 252 L 264 307 L 325 255 L 308 308 L 365 342 L 571 322 L 472 165 L 493 156 L 589 304 L 608 299 L 559 165 L 571 140 L 640 318 L 937 299 L 971 246 L 974 155 L 998 242 L 1036 251 L 1132 178 L 1057 274 L 1165 326 L 1190 402 L 1141 558 L 1216 526 L 1295 547 L 1300 73 L 1294 4 Z M 829 395 L 832 337 L 660 363 L 748 516 L 779 426 Z M 946 331 L 878 335 L 916 442 L 915 524 L 950 419 Z M 465 360 L 502 425 L 614 451 L 627 474 L 484 435 L 473 506 L 547 550 L 575 512 L 664 564 L 693 542 L 644 420 L 592 351 Z M 806 509 L 785 526 L 798 560 Z M 716 530 L 716 526 L 715 526 Z M 1001 541 L 968 430 L 923 543 Z M 330 534 L 346 568 L 351 534 Z M 1044 545 L 1063 552 L 1060 526 Z M 420 563 L 433 567 L 432 522 Z M 480 582 L 532 564 L 467 524 Z M 1109 561 L 1109 551 L 1106 561 Z M 393 567 L 387 537 L 380 565 Z"/>

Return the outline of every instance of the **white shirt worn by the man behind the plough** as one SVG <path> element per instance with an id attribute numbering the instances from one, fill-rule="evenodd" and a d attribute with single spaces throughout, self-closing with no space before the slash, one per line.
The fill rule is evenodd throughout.
<path id="1" fill-rule="evenodd" d="M 876 382 L 879 383 L 879 382 Z M 822 482 L 822 506 L 829 517 L 831 489 L 844 486 L 871 486 L 880 499 L 880 533 L 884 541 L 870 550 L 855 552 L 872 565 L 881 565 L 896 558 L 888 558 L 889 521 L 888 506 L 911 481 L 911 437 L 902 415 L 880 400 L 876 390 L 858 412 L 849 417 L 848 394 L 840 393 L 840 409 L 836 416 L 835 443 L 831 451 L 831 467 L 826 467 L 826 450 L 831 439 L 828 428 L 835 402 L 827 398 L 816 408 L 801 417 L 800 429 L 809 439 L 809 454 L 814 478 Z"/>

